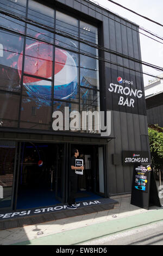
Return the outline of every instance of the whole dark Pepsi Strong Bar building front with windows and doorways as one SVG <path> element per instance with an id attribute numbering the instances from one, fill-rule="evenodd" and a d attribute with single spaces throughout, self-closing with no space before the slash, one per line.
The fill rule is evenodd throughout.
<path id="1" fill-rule="evenodd" d="M 124 152 L 149 154 L 139 27 L 87 0 L 0 8 L 0 208 L 67 202 L 74 148 L 79 197 L 129 193 Z"/>

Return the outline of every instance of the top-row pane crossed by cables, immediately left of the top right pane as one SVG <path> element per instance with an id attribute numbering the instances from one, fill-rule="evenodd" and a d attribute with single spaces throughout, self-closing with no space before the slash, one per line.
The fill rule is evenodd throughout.
<path id="1" fill-rule="evenodd" d="M 78 38 L 78 20 L 66 14 L 56 12 L 56 29 L 60 33 L 70 34 Z M 56 44 L 71 50 L 78 48 L 78 42 L 60 35 L 55 36 Z"/>

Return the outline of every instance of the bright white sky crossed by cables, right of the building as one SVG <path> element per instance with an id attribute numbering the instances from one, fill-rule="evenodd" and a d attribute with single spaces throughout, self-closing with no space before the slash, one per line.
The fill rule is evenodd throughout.
<path id="1" fill-rule="evenodd" d="M 128 10 L 125 10 L 118 5 L 109 2 L 108 0 L 90 0 L 96 4 L 103 6 L 104 8 L 109 9 L 113 13 L 124 17 L 127 20 L 130 20 L 140 27 L 147 29 L 148 31 L 153 32 L 163 38 L 163 27 L 156 25 L 155 23 L 143 19 L 142 17 L 131 13 Z M 151 20 L 163 24 L 162 19 L 162 10 L 163 10 L 163 1 L 162 0 L 114 0 L 115 2 L 127 7 L 131 10 L 134 10 L 136 13 L 139 13 L 143 16 L 148 17 Z M 141 31 L 142 33 L 145 33 Z M 149 34 L 147 34 L 149 35 Z M 149 35 L 152 37 L 152 35 Z M 155 38 L 157 39 L 157 38 Z M 157 39 L 159 40 L 159 39 Z M 160 40 L 163 43 L 163 40 Z M 144 62 L 148 62 L 163 68 L 163 44 L 156 42 L 147 36 L 140 34 L 140 45 L 141 45 L 141 58 Z M 143 65 L 143 72 L 148 72 L 152 75 L 163 74 L 163 71 L 157 71 L 153 68 Z M 154 80 L 154 77 L 143 75 L 143 80 L 145 86 L 150 80 Z"/>

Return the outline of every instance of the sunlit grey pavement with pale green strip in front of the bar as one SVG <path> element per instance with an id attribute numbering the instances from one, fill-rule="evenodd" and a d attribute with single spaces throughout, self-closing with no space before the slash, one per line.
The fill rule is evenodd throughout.
<path id="1" fill-rule="evenodd" d="M 77 245 L 163 220 L 163 207 L 130 204 L 130 194 L 111 197 L 114 209 L 0 231 L 0 245 Z M 163 205 L 163 199 L 160 200 Z M 98 230 L 98 231 L 97 231 Z M 39 232 L 39 233 L 38 233 Z"/>

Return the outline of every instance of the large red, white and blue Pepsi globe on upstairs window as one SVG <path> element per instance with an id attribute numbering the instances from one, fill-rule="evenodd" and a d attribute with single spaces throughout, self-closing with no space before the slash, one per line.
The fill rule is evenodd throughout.
<path id="1" fill-rule="evenodd" d="M 18 74 L 21 77 L 22 54 L 18 58 Z M 53 48 L 44 42 L 35 42 L 26 47 L 24 73 L 43 78 L 52 78 Z M 24 76 L 23 85 L 29 97 L 37 103 L 51 105 L 52 82 L 43 78 Z M 66 100 L 77 93 L 77 64 L 65 50 L 55 48 L 54 98 Z"/>

